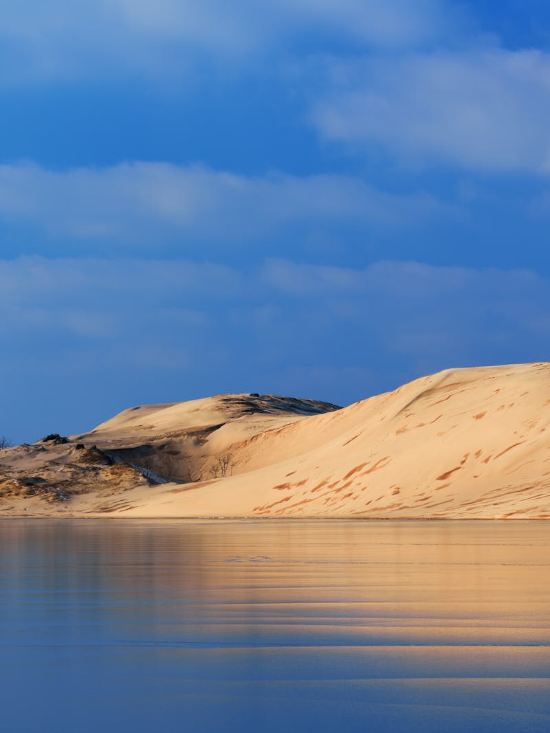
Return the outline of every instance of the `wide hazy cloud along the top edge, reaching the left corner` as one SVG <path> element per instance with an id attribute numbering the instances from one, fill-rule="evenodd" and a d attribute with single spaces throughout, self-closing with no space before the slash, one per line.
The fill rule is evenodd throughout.
<path id="1" fill-rule="evenodd" d="M 8 0 L 0 83 L 181 76 L 304 42 L 408 47 L 438 36 L 447 15 L 444 0 Z"/>

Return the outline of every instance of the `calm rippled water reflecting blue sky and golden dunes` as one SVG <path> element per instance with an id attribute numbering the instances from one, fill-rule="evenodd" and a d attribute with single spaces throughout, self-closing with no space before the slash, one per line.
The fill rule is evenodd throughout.
<path id="1" fill-rule="evenodd" d="M 2 731 L 550 731 L 550 525 L 0 522 Z"/>

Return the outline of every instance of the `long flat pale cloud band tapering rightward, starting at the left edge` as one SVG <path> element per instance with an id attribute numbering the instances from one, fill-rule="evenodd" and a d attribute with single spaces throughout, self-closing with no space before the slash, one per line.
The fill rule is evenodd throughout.
<path id="1" fill-rule="evenodd" d="M 298 227 L 414 226 L 450 209 L 424 193 L 389 194 L 339 175 L 246 177 L 204 166 L 122 163 L 52 171 L 0 166 L 0 221 L 55 237 L 144 244 L 254 243 Z"/>

